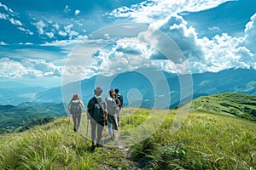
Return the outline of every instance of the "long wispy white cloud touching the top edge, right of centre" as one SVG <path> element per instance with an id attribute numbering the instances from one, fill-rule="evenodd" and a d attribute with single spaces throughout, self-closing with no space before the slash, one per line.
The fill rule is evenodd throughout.
<path id="1" fill-rule="evenodd" d="M 154 0 L 144 1 L 131 8 L 120 7 L 114 9 L 109 16 L 120 18 L 131 18 L 139 23 L 151 23 L 166 18 L 169 14 L 178 14 L 182 12 L 198 12 L 209 8 L 217 7 L 219 4 L 230 0 Z"/>

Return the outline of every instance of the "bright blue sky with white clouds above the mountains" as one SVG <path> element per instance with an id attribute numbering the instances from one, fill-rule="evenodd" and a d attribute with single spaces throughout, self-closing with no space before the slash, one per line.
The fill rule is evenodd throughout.
<path id="1" fill-rule="evenodd" d="M 65 67 L 73 49 L 91 32 L 121 23 L 143 24 L 151 35 L 164 32 L 185 61 L 168 60 L 148 45 L 132 43 L 142 36 L 125 34 L 120 39 L 129 41 L 119 39 L 111 47 L 96 49 L 85 69 L 79 62 Z M 0 81 L 53 87 L 61 85 L 68 71 L 84 71 L 82 78 L 88 78 L 149 65 L 183 73 L 183 62 L 193 73 L 256 69 L 255 23 L 253 0 L 0 0 Z M 155 41 L 156 48 L 165 45 Z"/>

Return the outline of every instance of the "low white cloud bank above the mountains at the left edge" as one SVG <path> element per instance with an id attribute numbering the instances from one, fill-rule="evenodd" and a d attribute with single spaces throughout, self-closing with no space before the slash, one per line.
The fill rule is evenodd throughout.
<path id="1" fill-rule="evenodd" d="M 0 59 L 0 76 L 4 78 L 61 77 L 61 70 L 61 67 L 44 59 Z"/>

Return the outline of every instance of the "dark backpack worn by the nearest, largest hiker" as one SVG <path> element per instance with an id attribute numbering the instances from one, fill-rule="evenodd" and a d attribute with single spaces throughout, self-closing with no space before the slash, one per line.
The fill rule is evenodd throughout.
<path id="1" fill-rule="evenodd" d="M 93 98 L 93 103 L 92 105 L 90 105 L 90 108 L 89 108 L 90 116 L 96 122 L 104 121 L 104 111 L 102 109 L 102 107 L 104 107 L 103 103 L 104 103 L 104 100 Z"/>

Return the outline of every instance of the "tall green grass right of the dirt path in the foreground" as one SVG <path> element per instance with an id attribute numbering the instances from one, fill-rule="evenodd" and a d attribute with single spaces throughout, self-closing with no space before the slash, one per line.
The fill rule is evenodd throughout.
<path id="1" fill-rule="evenodd" d="M 172 113 L 170 113 L 172 114 Z M 175 135 L 172 116 L 153 138 L 131 147 L 131 156 L 154 169 L 253 169 L 256 124 L 226 116 L 194 112 Z M 146 143 L 146 144 L 145 144 Z M 148 149 L 151 145 L 152 149 Z"/>

